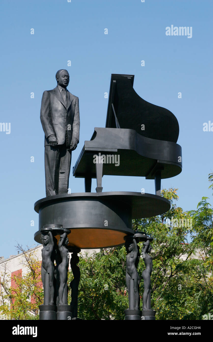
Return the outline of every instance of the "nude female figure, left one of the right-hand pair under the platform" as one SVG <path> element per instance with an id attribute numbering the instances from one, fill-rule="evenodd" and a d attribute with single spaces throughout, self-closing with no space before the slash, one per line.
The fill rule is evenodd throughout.
<path id="1" fill-rule="evenodd" d="M 126 240 L 125 247 L 127 251 L 126 255 L 126 287 L 129 293 L 129 280 L 133 279 L 134 284 L 134 310 L 140 310 L 140 296 L 139 296 L 139 285 L 140 277 L 137 271 L 139 263 L 140 252 L 139 247 L 135 239 Z"/>

